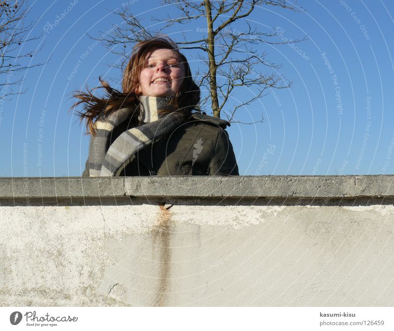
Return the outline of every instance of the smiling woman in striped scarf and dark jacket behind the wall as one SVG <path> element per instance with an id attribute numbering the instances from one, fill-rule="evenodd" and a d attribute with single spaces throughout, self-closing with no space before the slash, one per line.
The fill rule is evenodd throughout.
<path id="1" fill-rule="evenodd" d="M 200 90 L 171 39 L 134 46 L 123 92 L 100 83 L 106 98 L 74 95 L 91 133 L 82 176 L 238 175 L 230 123 L 193 111 Z"/>

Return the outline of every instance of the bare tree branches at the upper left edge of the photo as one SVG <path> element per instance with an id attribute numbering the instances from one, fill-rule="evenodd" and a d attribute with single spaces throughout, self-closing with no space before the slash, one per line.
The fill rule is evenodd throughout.
<path id="1" fill-rule="evenodd" d="M 29 8 L 26 0 L 0 0 L 0 99 L 9 95 L 23 93 L 13 92 L 12 87 L 20 85 L 22 78 L 15 76 L 16 72 L 24 71 L 42 63 L 26 65 L 21 59 L 32 58 L 36 51 L 23 51 L 23 46 L 39 37 L 26 37 L 33 28 L 33 23 L 26 25 L 26 15 Z"/>

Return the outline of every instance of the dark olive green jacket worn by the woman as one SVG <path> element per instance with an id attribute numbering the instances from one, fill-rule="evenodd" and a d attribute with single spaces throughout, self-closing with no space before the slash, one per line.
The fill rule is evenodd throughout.
<path id="1" fill-rule="evenodd" d="M 114 129 L 110 144 L 135 123 Z M 227 120 L 194 113 L 171 134 L 132 155 L 117 176 L 238 176 L 234 151 L 225 130 Z M 89 176 L 89 160 L 82 176 Z"/>

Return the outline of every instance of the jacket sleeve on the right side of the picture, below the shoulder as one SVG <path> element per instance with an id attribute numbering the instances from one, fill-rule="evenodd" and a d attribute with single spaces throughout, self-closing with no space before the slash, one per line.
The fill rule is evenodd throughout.
<path id="1" fill-rule="evenodd" d="M 214 153 L 209 164 L 211 176 L 239 176 L 234 150 L 226 130 L 218 133 Z"/>

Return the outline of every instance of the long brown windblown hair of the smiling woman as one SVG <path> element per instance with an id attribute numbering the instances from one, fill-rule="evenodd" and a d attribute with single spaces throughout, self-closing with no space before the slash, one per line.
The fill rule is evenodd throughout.
<path id="1" fill-rule="evenodd" d="M 123 71 L 122 91 L 113 89 L 109 84 L 99 77 L 101 86 L 86 92 L 76 91 L 73 96 L 78 100 L 73 107 L 83 104 L 83 111 L 77 112 L 81 121 L 86 119 L 88 132 L 96 135 L 95 121 L 99 118 L 105 118 L 112 112 L 124 107 L 137 106 L 139 104 L 138 95 L 135 89 L 139 86 L 139 77 L 141 70 L 144 68 L 145 60 L 152 52 L 157 49 L 165 48 L 174 51 L 185 68 L 185 77 L 180 87 L 179 93 L 169 98 L 176 109 L 181 108 L 178 116 L 188 117 L 193 108 L 200 101 L 200 89 L 193 81 L 192 72 L 186 57 L 179 51 L 176 43 L 167 36 L 153 37 L 138 42 L 134 45 L 131 58 Z M 93 94 L 94 90 L 104 89 L 104 97 L 98 97 Z M 168 98 L 168 97 L 167 97 Z M 137 112 L 133 112 L 131 117 L 138 117 Z"/>

